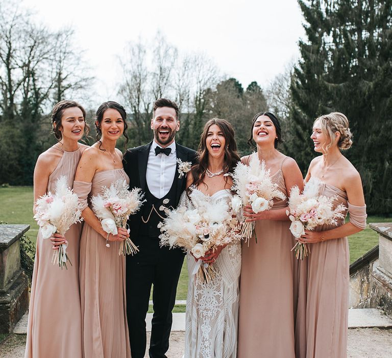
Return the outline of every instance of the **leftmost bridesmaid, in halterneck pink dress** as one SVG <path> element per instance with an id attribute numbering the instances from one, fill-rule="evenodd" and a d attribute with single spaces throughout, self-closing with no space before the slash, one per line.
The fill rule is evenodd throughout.
<path id="1" fill-rule="evenodd" d="M 68 186 L 72 188 L 76 168 L 87 148 L 78 142 L 85 129 L 88 130 L 85 117 L 84 108 L 77 102 L 61 101 L 56 104 L 52 124 L 59 142 L 38 157 L 34 170 L 34 202 L 46 192 L 53 192 L 57 179 L 62 175 L 66 176 Z M 82 224 L 77 223 L 69 228 L 65 237 L 55 234 L 50 240 L 42 239 L 38 231 L 26 358 L 82 357 L 79 294 L 81 231 Z M 51 262 L 52 249 L 61 243 L 68 243 L 67 254 L 72 265 L 68 264 L 67 270 L 61 270 Z"/>

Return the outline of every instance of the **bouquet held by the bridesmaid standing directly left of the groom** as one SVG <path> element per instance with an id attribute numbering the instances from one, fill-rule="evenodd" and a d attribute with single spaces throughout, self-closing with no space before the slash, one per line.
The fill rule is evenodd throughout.
<path id="1" fill-rule="evenodd" d="M 117 235 L 117 227 L 126 228 L 130 215 L 135 214 L 143 204 L 141 189 L 128 190 L 125 180 L 118 179 L 110 185 L 103 187 L 103 195 L 95 195 L 91 198 L 92 210 L 101 220 L 102 229 L 108 234 Z M 130 230 L 128 228 L 128 234 Z M 106 241 L 106 246 L 110 244 Z M 129 237 L 120 241 L 118 255 L 134 255 L 139 251 Z"/>

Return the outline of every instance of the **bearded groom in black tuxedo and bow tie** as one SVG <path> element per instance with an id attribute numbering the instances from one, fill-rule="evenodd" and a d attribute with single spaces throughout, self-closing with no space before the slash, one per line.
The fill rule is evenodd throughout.
<path id="1" fill-rule="evenodd" d="M 151 129 L 154 140 L 128 149 L 124 169 L 130 188 L 141 188 L 146 202 L 128 220 L 131 239 L 139 252 L 127 256 L 127 318 L 132 358 L 143 358 L 146 347 L 145 317 L 153 284 L 154 315 L 150 358 L 164 358 L 169 348 L 171 310 L 176 300 L 178 279 L 184 261 L 180 249 L 159 247 L 158 223 L 165 217 L 161 206 L 176 208 L 185 189 L 186 174 L 181 175 L 178 159 L 195 163 L 196 152 L 175 142 L 180 129 L 175 102 L 160 98 L 154 103 Z M 167 204 L 166 204 L 167 203 Z"/>

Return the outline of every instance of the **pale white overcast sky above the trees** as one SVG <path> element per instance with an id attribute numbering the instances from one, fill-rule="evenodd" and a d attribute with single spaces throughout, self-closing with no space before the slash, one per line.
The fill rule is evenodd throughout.
<path id="1" fill-rule="evenodd" d="M 96 77 L 93 103 L 118 100 L 120 56 L 128 41 L 151 41 L 157 31 L 180 52 L 207 54 L 243 87 L 262 87 L 298 58 L 304 36 L 296 0 L 24 0 L 53 30 L 75 29 L 77 45 Z"/>

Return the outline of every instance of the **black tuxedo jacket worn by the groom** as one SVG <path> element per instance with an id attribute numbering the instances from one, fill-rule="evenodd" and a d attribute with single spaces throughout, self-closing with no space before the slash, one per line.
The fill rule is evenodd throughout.
<path id="1" fill-rule="evenodd" d="M 122 159 L 122 164 L 124 165 L 124 170 L 129 176 L 129 188 L 141 188 L 141 192 L 144 194 L 146 189 L 146 171 L 147 162 L 149 160 L 150 148 L 152 141 L 149 144 L 141 145 L 136 148 L 128 149 L 124 158 Z M 197 163 L 197 152 L 193 149 L 184 147 L 176 142 L 176 155 L 177 158 L 181 159 L 183 162 L 191 162 L 192 165 Z M 176 192 L 176 203 L 173 207 L 177 207 L 180 202 L 180 197 L 186 186 L 186 174 L 179 178 L 178 164 L 176 167 L 176 174 L 174 180 L 177 181 L 177 192 Z M 139 234 L 141 222 L 141 210 L 136 214 L 131 215 L 128 220 L 129 227 L 132 231 L 132 237 L 137 237 Z"/>

